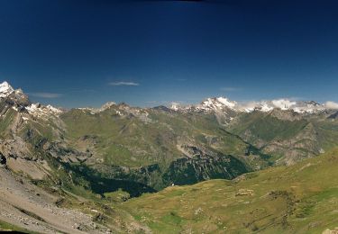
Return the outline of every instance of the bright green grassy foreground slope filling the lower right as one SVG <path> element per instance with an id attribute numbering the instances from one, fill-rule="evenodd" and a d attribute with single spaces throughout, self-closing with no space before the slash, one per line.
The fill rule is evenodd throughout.
<path id="1" fill-rule="evenodd" d="M 169 187 L 124 202 L 123 209 L 160 233 L 320 233 L 338 226 L 337 167 L 338 149 L 237 182 Z"/>

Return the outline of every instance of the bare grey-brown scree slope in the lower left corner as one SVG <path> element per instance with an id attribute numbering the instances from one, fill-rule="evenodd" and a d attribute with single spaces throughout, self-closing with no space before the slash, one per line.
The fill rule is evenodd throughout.
<path id="1" fill-rule="evenodd" d="M 58 207 L 58 200 L 58 195 L 14 175 L 5 166 L 0 168 L 0 220 L 41 233 L 111 232 L 94 222 L 92 216 Z"/>

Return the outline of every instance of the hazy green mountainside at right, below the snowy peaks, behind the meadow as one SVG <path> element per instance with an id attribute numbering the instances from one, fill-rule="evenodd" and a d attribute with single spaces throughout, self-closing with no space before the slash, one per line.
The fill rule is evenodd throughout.
<path id="1" fill-rule="evenodd" d="M 228 129 L 261 152 L 275 165 L 292 165 L 337 146 L 338 121 L 326 113 L 300 114 L 275 109 L 244 113 Z"/>

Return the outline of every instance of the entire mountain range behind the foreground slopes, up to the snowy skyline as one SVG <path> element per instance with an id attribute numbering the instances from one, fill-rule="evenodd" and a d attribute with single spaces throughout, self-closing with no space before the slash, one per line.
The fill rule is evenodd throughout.
<path id="1" fill-rule="evenodd" d="M 31 103 L 6 82 L 0 91 L 1 153 L 10 169 L 33 179 L 52 178 L 53 166 L 62 166 L 88 181 L 159 190 L 291 165 L 338 139 L 335 112 L 315 102 L 250 107 L 219 97 L 171 109 L 106 103 L 65 111 Z"/>

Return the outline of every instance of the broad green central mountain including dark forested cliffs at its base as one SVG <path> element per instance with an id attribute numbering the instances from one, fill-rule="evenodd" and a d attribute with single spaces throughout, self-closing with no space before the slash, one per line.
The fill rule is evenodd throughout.
<path id="1" fill-rule="evenodd" d="M 155 189 L 231 179 L 268 165 L 269 156 L 224 130 L 213 114 L 114 104 L 101 112 L 74 109 L 61 119 L 69 146 L 90 155 L 84 165 Z"/>

